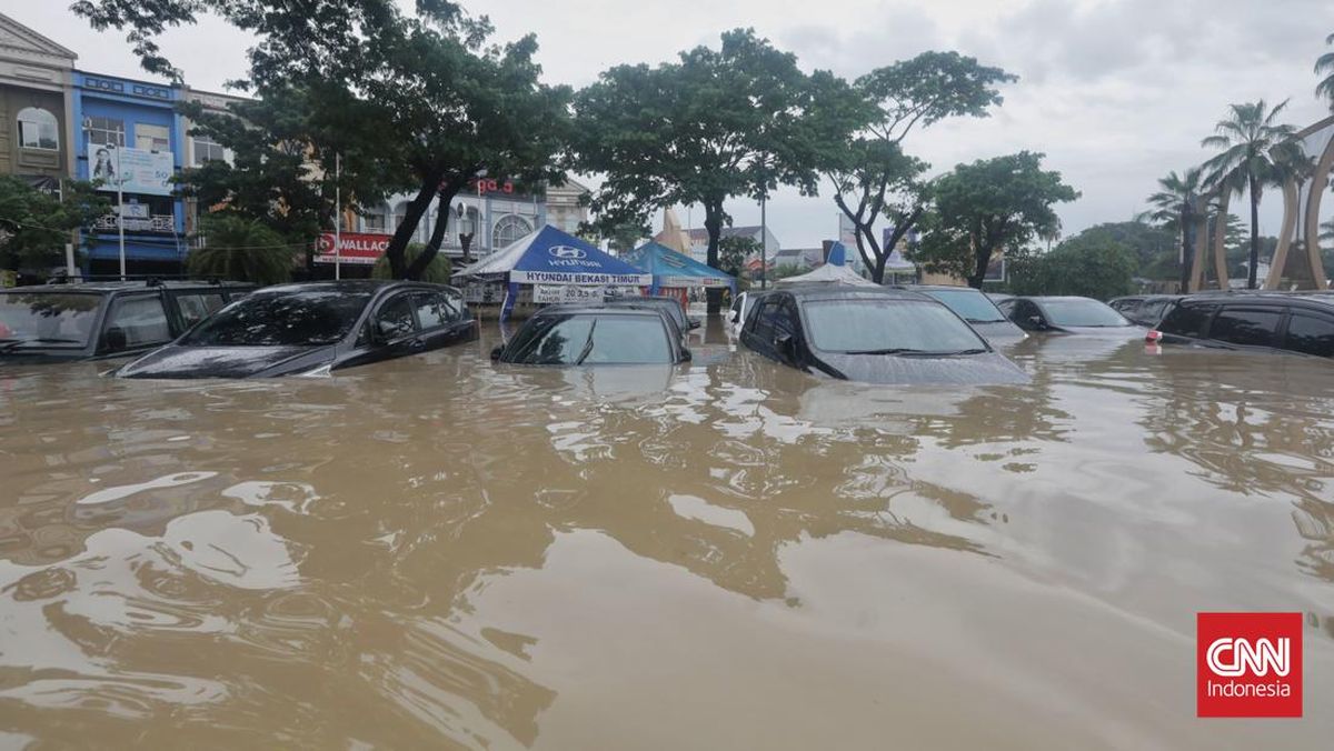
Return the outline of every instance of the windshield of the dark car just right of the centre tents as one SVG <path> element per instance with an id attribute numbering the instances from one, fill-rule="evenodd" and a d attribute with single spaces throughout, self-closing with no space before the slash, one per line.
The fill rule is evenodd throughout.
<path id="1" fill-rule="evenodd" d="M 803 308 L 811 344 L 826 352 L 947 355 L 987 348 L 948 308 L 926 300 L 816 300 Z"/>

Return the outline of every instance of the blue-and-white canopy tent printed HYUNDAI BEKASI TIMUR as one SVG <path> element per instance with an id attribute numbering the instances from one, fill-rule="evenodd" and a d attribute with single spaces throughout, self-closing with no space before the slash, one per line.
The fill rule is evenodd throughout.
<path id="1" fill-rule="evenodd" d="M 500 317 L 506 319 L 519 297 L 520 284 L 532 284 L 534 301 L 542 303 L 564 299 L 562 295 L 543 293 L 559 292 L 559 288 L 598 288 L 596 293 L 588 289 L 587 296 L 600 299 L 607 287 L 648 287 L 654 277 L 574 235 L 547 225 L 460 269 L 454 275 L 454 281 L 507 283 L 500 308 Z"/>

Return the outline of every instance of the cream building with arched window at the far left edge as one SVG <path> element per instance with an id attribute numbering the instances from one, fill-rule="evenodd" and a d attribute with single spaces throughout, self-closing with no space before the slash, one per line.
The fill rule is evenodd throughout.
<path id="1" fill-rule="evenodd" d="M 73 172 L 71 76 L 77 55 L 0 15 L 0 173 L 57 189 Z"/>

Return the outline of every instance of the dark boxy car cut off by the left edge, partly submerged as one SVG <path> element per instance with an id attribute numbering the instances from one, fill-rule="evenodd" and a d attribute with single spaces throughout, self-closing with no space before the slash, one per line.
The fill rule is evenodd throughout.
<path id="1" fill-rule="evenodd" d="M 252 289 L 253 284 L 159 280 L 0 289 L 0 363 L 140 355 Z"/>

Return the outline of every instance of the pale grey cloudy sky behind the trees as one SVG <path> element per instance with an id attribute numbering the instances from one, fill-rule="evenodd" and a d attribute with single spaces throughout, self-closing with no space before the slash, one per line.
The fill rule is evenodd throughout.
<path id="1" fill-rule="evenodd" d="M 1334 33 L 1329 0 L 464 3 L 488 13 L 503 39 L 536 32 L 547 79 L 576 87 L 619 63 L 658 63 L 698 44 L 716 45 L 719 32 L 735 27 L 754 27 L 807 69 L 847 77 L 926 49 L 1000 65 L 1021 80 L 1006 87 L 991 117 L 939 123 L 910 136 L 908 149 L 934 172 L 1019 149 L 1046 153 L 1047 167 L 1083 193 L 1061 208 L 1066 235 L 1130 219 L 1159 176 L 1206 159 L 1199 139 L 1229 103 L 1291 99 L 1289 121 L 1297 125 L 1329 113 L 1314 97 L 1311 72 Z M 81 68 L 141 75 L 121 35 L 93 32 L 63 1 L 7 5 L 5 13 L 77 52 Z M 163 39 L 187 81 L 204 89 L 244 73 L 248 44 L 216 19 Z M 1277 232 L 1279 208 L 1278 200 L 1266 201 L 1263 232 Z M 759 220 L 748 201 L 728 211 L 736 224 Z M 682 220 L 687 215 L 682 209 Z M 694 215 L 702 221 L 702 212 Z M 784 192 L 770 201 L 768 221 L 784 247 L 816 245 L 838 229 L 827 195 Z"/>

